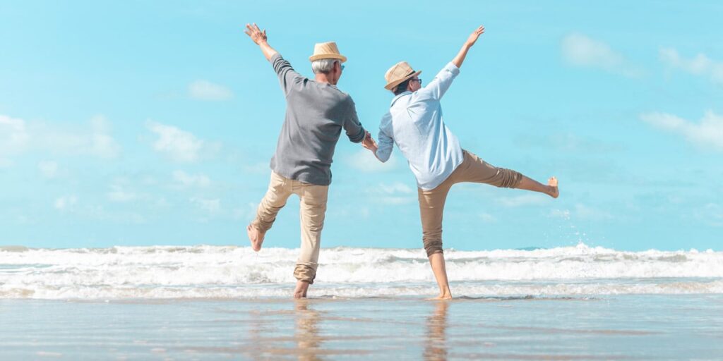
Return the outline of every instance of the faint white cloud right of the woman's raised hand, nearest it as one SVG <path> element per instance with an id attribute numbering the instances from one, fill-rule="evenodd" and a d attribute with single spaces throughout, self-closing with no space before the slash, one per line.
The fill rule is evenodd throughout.
<path id="1" fill-rule="evenodd" d="M 642 72 L 607 43 L 579 33 L 565 36 L 561 49 L 562 58 L 574 66 L 599 68 L 626 77 L 638 77 Z"/>

